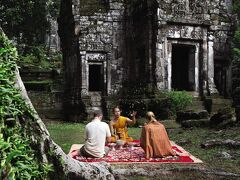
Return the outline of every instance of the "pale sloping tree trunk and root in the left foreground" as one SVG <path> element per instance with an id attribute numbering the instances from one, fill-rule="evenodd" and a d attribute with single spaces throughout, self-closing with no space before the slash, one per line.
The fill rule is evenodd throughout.
<path id="1" fill-rule="evenodd" d="M 114 179 L 108 163 L 83 163 L 74 160 L 51 139 L 45 124 L 27 95 L 18 70 L 16 71 L 16 87 L 20 89 L 25 102 L 35 112 L 34 122 L 28 133 L 31 133 L 33 148 L 37 151 L 40 161 L 53 164 L 54 172 L 50 173 L 50 179 Z M 22 126 L 27 126 L 26 121 L 22 120 L 20 123 Z"/>

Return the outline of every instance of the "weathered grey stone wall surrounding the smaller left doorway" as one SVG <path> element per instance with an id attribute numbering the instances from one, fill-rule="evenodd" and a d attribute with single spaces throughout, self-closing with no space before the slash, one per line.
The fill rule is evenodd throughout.
<path id="1" fill-rule="evenodd" d="M 89 2 L 89 1 L 87 1 Z M 75 2 L 74 18 L 79 28 L 79 49 L 82 61 L 82 95 L 89 95 L 89 65 L 101 65 L 104 94 L 116 92 L 122 85 L 125 59 L 124 50 L 124 4 L 109 1 L 98 4 L 94 12 L 81 15 L 82 4 Z M 80 3 L 80 6 L 79 4 Z M 80 12 L 78 8 L 80 7 Z M 93 8 L 93 5 L 85 8 Z M 102 10 L 104 9 L 104 11 Z"/>

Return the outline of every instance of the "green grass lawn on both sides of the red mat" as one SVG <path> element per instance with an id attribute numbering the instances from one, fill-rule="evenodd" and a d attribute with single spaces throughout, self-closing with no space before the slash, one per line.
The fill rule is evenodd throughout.
<path id="1" fill-rule="evenodd" d="M 163 122 L 168 129 L 169 138 L 181 145 L 191 154 L 201 159 L 212 169 L 223 170 L 229 173 L 240 174 L 240 148 L 214 147 L 201 148 L 201 144 L 211 139 L 232 139 L 240 141 L 240 127 L 226 130 L 208 128 L 182 129 L 175 122 Z M 72 144 L 84 142 L 84 124 L 78 123 L 46 123 L 53 140 L 59 144 L 64 152 L 68 152 Z M 139 139 L 141 128 L 128 128 L 129 135 Z M 232 155 L 232 158 L 219 156 L 221 152 Z"/>

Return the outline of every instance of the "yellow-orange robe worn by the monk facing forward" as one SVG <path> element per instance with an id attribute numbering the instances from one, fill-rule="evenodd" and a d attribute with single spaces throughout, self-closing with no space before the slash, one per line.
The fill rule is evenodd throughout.
<path id="1" fill-rule="evenodd" d="M 116 122 L 112 122 L 114 135 L 111 138 L 112 142 L 116 142 L 116 140 L 124 140 L 126 142 L 133 141 L 133 138 L 128 136 L 127 130 L 127 117 L 119 116 Z"/>

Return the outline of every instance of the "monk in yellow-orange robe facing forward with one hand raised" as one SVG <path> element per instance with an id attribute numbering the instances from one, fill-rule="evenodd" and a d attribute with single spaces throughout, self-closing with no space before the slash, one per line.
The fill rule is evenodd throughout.
<path id="1" fill-rule="evenodd" d="M 121 116 L 121 110 L 117 106 L 113 108 L 114 118 L 109 122 L 109 127 L 111 131 L 111 142 L 116 142 L 117 140 L 123 140 L 125 142 L 132 142 L 133 138 L 128 136 L 127 125 L 136 123 L 136 112 L 131 114 L 132 120 Z"/>

